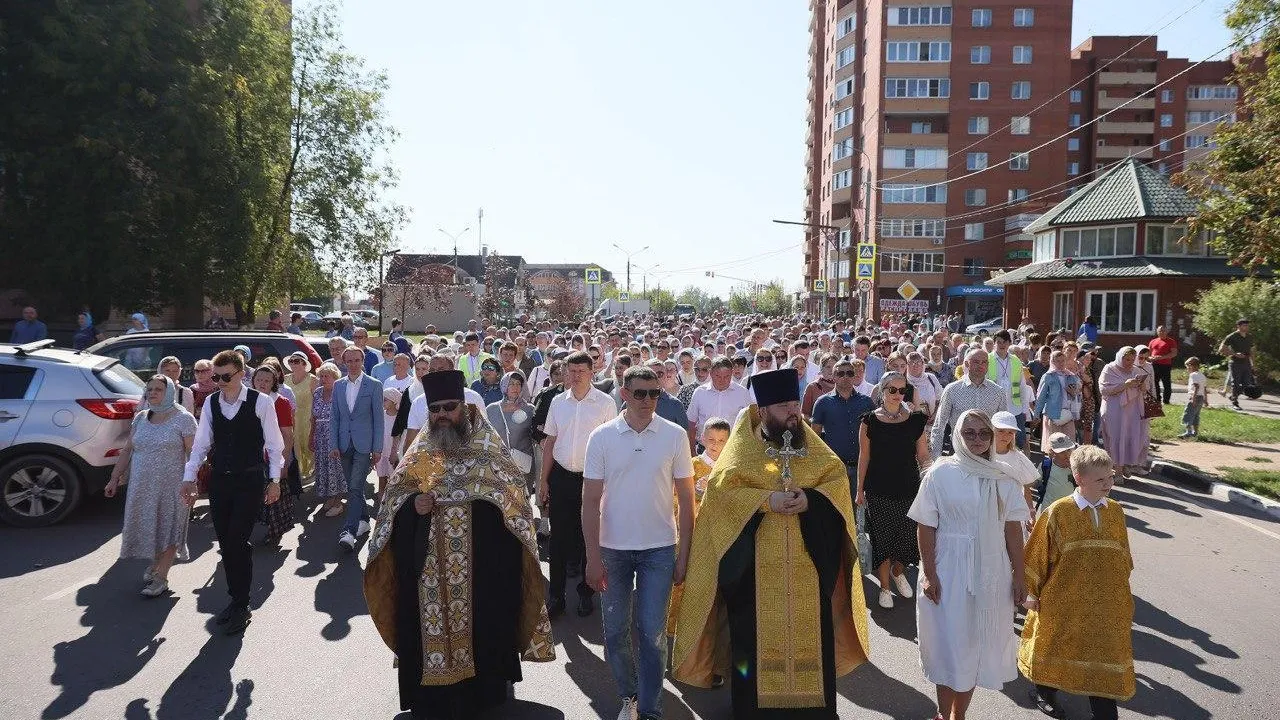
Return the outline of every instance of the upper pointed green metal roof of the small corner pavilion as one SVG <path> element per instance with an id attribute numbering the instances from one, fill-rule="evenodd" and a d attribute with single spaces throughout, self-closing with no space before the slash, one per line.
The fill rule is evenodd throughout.
<path id="1" fill-rule="evenodd" d="M 1142 219 L 1181 219 L 1194 215 L 1196 201 L 1169 178 L 1129 159 L 1107 168 L 1093 182 L 1027 225 L 1037 233 L 1075 224 L 1120 223 Z"/>

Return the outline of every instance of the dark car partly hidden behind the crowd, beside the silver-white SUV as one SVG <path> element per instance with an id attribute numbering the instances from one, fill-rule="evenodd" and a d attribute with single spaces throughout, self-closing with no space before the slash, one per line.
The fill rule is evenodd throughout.
<path id="1" fill-rule="evenodd" d="M 319 366 L 320 356 L 306 338 L 262 331 L 173 331 L 122 334 L 104 340 L 88 348 L 96 355 L 106 355 L 124 364 L 143 380 L 151 379 L 160 359 L 173 355 L 182 361 L 182 382 L 191 384 L 196 379 L 192 365 L 196 360 L 211 360 L 223 350 L 244 345 L 252 354 L 251 363 L 257 365 L 262 357 L 279 357 L 302 351 L 311 360 L 311 366 Z"/>

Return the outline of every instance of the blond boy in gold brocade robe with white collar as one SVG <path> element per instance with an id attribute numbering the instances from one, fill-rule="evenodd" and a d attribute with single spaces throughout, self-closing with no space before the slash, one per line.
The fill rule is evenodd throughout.
<path id="1" fill-rule="evenodd" d="M 1030 700 L 1062 717 L 1057 691 L 1088 696 L 1093 720 L 1115 720 L 1134 694 L 1133 556 L 1120 503 L 1107 500 L 1111 456 L 1083 446 L 1071 456 L 1076 489 L 1051 505 L 1027 542 L 1027 621 L 1018 669 Z"/>

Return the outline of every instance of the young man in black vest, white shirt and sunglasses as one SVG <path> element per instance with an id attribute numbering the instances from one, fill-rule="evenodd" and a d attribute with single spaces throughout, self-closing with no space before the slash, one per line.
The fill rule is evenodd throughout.
<path id="1" fill-rule="evenodd" d="M 224 350 L 214 356 L 214 382 L 219 391 L 205 398 L 183 477 L 187 502 L 196 496 L 196 471 L 209 456 L 209 507 L 214 533 L 223 553 L 223 574 L 230 603 L 215 621 L 228 635 L 248 626 L 248 588 L 253 579 L 253 556 L 248 536 L 262 503 L 280 498 L 284 438 L 271 398 L 244 387 L 244 359 Z M 270 482 L 268 479 L 270 478 Z"/>

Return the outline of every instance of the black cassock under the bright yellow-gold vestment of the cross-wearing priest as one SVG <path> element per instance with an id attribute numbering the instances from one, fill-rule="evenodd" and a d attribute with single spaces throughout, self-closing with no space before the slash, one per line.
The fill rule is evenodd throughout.
<path id="1" fill-rule="evenodd" d="M 822 603 L 822 687 L 826 707 L 759 707 L 755 689 L 755 532 L 764 520 L 756 512 L 719 564 L 719 591 L 728 611 L 730 688 L 733 717 L 809 719 L 836 717 L 836 639 L 831 618 L 831 594 L 840 582 L 840 555 L 845 546 L 845 521 L 836 506 L 815 489 L 803 491 L 809 509 L 800 514 L 805 551 L 818 570 Z"/>

